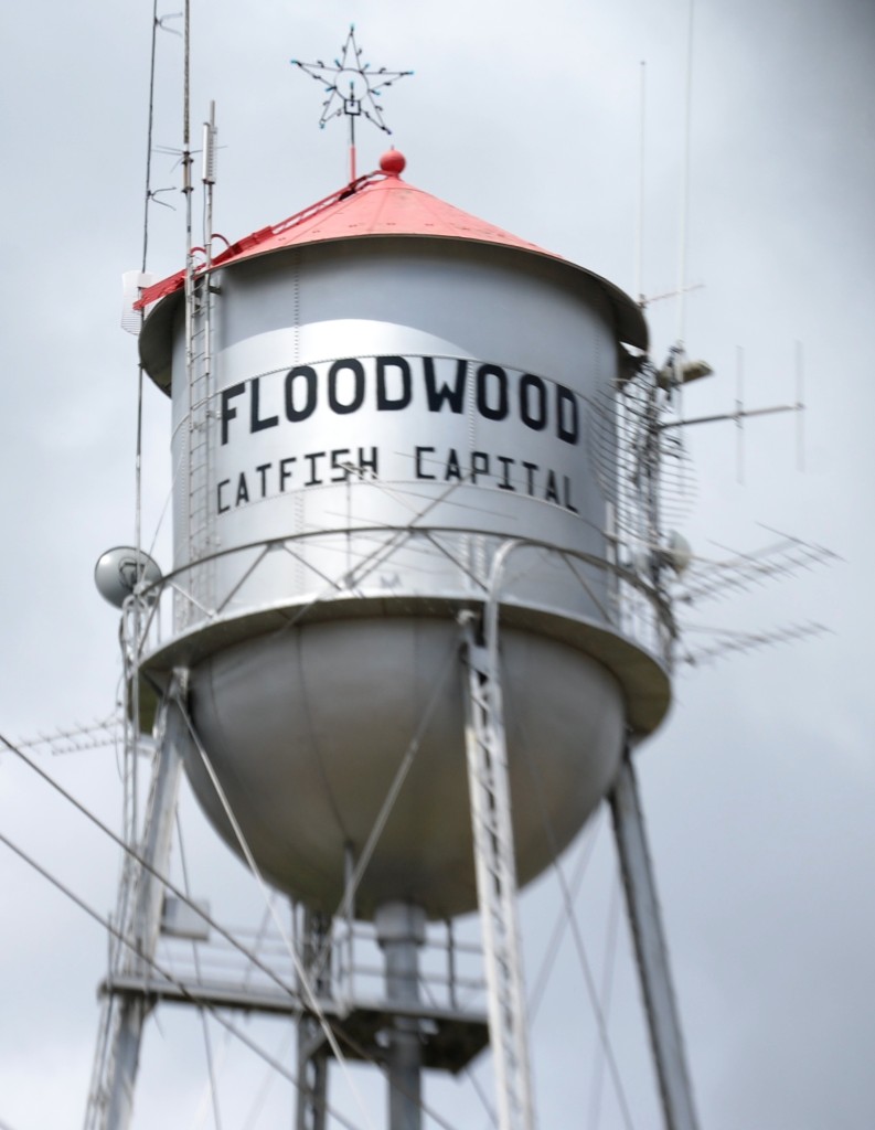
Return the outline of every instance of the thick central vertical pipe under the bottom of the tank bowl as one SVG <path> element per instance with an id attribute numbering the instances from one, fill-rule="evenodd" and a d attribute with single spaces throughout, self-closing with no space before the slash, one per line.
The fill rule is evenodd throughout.
<path id="1" fill-rule="evenodd" d="M 419 999 L 419 947 L 425 913 L 409 903 L 385 903 L 374 915 L 385 962 L 385 996 L 415 1005 Z M 419 1022 L 396 1016 L 389 1033 L 389 1130 L 422 1128 L 422 1041 Z"/>

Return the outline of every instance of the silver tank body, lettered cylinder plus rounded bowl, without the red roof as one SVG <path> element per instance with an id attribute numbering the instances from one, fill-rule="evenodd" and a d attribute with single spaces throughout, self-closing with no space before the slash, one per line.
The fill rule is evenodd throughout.
<path id="1" fill-rule="evenodd" d="M 561 260 L 415 234 L 317 238 L 211 287 L 206 405 L 179 296 L 141 337 L 153 375 L 172 355 L 175 469 L 174 621 L 148 666 L 191 668 L 255 859 L 327 912 L 418 740 L 356 910 L 470 911 L 457 616 L 483 607 L 497 549 L 537 542 L 499 590 L 522 881 L 604 796 L 625 729 L 667 707 L 661 668 L 617 632 L 609 572 L 587 564 L 608 554 L 586 437 L 617 373 L 616 298 Z"/>

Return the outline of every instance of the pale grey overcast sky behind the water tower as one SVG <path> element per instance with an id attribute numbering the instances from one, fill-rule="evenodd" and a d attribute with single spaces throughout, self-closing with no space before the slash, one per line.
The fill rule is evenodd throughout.
<path id="1" fill-rule="evenodd" d="M 410 183 L 630 292 L 646 60 L 643 289 L 676 286 L 687 0 L 192 8 L 192 114 L 200 122 L 216 99 L 216 228 L 229 238 L 343 184 L 344 127 L 318 129 L 319 87 L 288 60 L 333 56 L 355 20 L 374 66 L 416 72 L 383 99 Z M 162 15 L 176 10 L 168 3 Z M 120 277 L 141 255 L 151 5 L 46 0 L 7 5 L 0 19 L 0 731 L 32 738 L 104 716 L 118 694 L 118 617 L 92 574 L 104 549 L 133 537 L 136 342 L 119 328 Z M 873 52 L 870 0 L 696 3 L 688 278 L 702 287 L 688 296 L 685 337 L 717 376 L 691 389 L 686 407 L 734 409 L 739 349 L 748 406 L 791 401 L 802 342 L 808 410 L 804 471 L 789 416 L 748 423 L 742 476 L 733 424 L 691 429 L 698 499 L 683 532 L 714 559 L 725 547 L 773 541 L 763 525 L 843 558 L 691 609 L 691 646 L 713 638 L 696 626 L 768 631 L 814 619 L 830 633 L 681 671 L 669 721 L 640 750 L 703 1130 L 875 1124 Z M 181 137 L 181 40 L 162 33 L 155 141 L 170 148 Z M 374 167 L 388 139 L 367 127 L 359 137 L 359 168 Z M 179 188 L 172 156 L 156 155 L 153 183 Z M 184 244 L 179 193 L 161 199 L 175 210 L 151 209 L 149 268 L 159 276 L 182 266 Z M 655 303 L 649 318 L 661 360 L 677 333 L 676 303 Z M 167 406 L 151 388 L 145 412 L 150 541 L 170 484 Z M 156 554 L 168 563 L 164 527 Z M 118 826 L 113 750 L 41 764 Z M 242 869 L 190 819 L 192 855 L 206 860 L 192 864 L 196 880 L 211 885 L 214 905 L 224 889 L 233 914 L 257 907 Z M 111 907 L 112 845 L 6 755 L 0 828 L 90 905 Z M 606 832 L 580 902 L 599 976 Z M 0 890 L 0 1125 L 75 1127 L 105 938 L 6 850 Z M 556 905 L 546 883 L 523 898 L 530 971 Z M 634 1124 L 657 1127 L 624 930 L 610 1015 Z M 279 1036 L 266 1038 L 276 1048 Z M 588 1125 L 592 1020 L 568 944 L 534 1045 L 542 1127 Z M 233 1092 L 225 1130 L 281 1124 L 285 1085 L 262 1121 L 246 1123 L 246 1090 L 261 1070 L 231 1060 L 224 1070 Z M 149 1025 L 144 1080 L 137 1127 L 199 1124 L 203 1067 L 191 1017 L 165 1010 Z M 466 1085 L 440 1097 L 452 1124 L 484 1123 Z M 601 1113 L 605 1130 L 623 1124 L 607 1083 Z"/>

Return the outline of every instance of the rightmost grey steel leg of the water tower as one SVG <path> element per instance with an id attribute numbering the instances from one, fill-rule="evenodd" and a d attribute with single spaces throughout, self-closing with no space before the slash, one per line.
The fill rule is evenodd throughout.
<path id="1" fill-rule="evenodd" d="M 668 948 L 647 846 L 638 781 L 629 750 L 623 756 L 609 799 L 666 1128 L 698 1130 L 668 967 Z"/>

